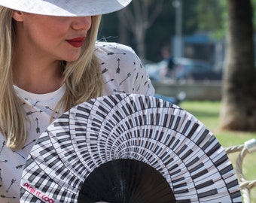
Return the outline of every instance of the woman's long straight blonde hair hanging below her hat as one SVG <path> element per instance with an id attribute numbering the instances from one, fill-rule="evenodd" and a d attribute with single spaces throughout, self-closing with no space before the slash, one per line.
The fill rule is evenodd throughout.
<path id="1" fill-rule="evenodd" d="M 90 98 L 102 95 L 103 83 L 94 53 L 101 16 L 92 17 L 92 26 L 81 56 L 75 62 L 62 62 L 66 92 L 57 105 L 68 111 Z M 20 150 L 26 142 L 26 120 L 12 79 L 12 52 L 16 28 L 12 10 L 0 6 L 0 131 L 11 150 Z"/>

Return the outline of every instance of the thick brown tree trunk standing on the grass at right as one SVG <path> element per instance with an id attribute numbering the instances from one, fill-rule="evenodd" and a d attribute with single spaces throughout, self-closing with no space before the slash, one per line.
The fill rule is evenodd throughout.
<path id="1" fill-rule="evenodd" d="M 221 129 L 256 130 L 256 69 L 250 0 L 228 0 Z"/>

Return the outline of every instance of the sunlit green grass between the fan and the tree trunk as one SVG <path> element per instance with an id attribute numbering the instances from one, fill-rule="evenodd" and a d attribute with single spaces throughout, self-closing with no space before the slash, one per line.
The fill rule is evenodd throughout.
<path id="1" fill-rule="evenodd" d="M 211 101 L 184 101 L 181 103 L 181 108 L 193 114 L 198 120 L 215 135 L 223 147 L 236 146 L 244 144 L 252 138 L 256 138 L 256 132 L 230 132 L 221 131 L 219 113 L 221 102 Z M 239 153 L 230 153 L 229 157 L 233 166 L 236 167 L 236 157 Z M 243 160 L 243 173 L 247 180 L 256 180 L 256 153 L 251 153 L 245 156 Z M 256 188 L 251 190 L 251 203 L 256 203 Z"/>

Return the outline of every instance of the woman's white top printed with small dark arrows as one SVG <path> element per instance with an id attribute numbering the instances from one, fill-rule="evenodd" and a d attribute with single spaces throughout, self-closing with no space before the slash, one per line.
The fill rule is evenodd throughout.
<path id="1" fill-rule="evenodd" d="M 122 44 L 98 42 L 96 54 L 102 66 L 105 81 L 104 94 L 139 93 L 154 95 L 154 88 L 148 79 L 141 61 L 136 53 Z M 26 92 L 14 86 L 17 95 L 23 100 L 29 137 L 21 150 L 12 151 L 5 146 L 5 139 L 0 134 L 0 202 L 20 202 L 20 178 L 23 165 L 39 135 L 47 129 L 56 103 L 65 92 L 62 85 L 55 92 L 43 95 Z M 63 112 L 54 112 L 59 117 Z"/>

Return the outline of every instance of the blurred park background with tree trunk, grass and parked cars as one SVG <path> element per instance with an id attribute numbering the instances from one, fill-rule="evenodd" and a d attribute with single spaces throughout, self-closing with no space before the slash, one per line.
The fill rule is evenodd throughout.
<path id="1" fill-rule="evenodd" d="M 132 47 L 157 95 L 180 98 L 230 147 L 256 138 L 255 8 L 256 0 L 133 0 L 102 18 L 98 38 Z M 249 180 L 255 168 L 254 153 Z"/>

